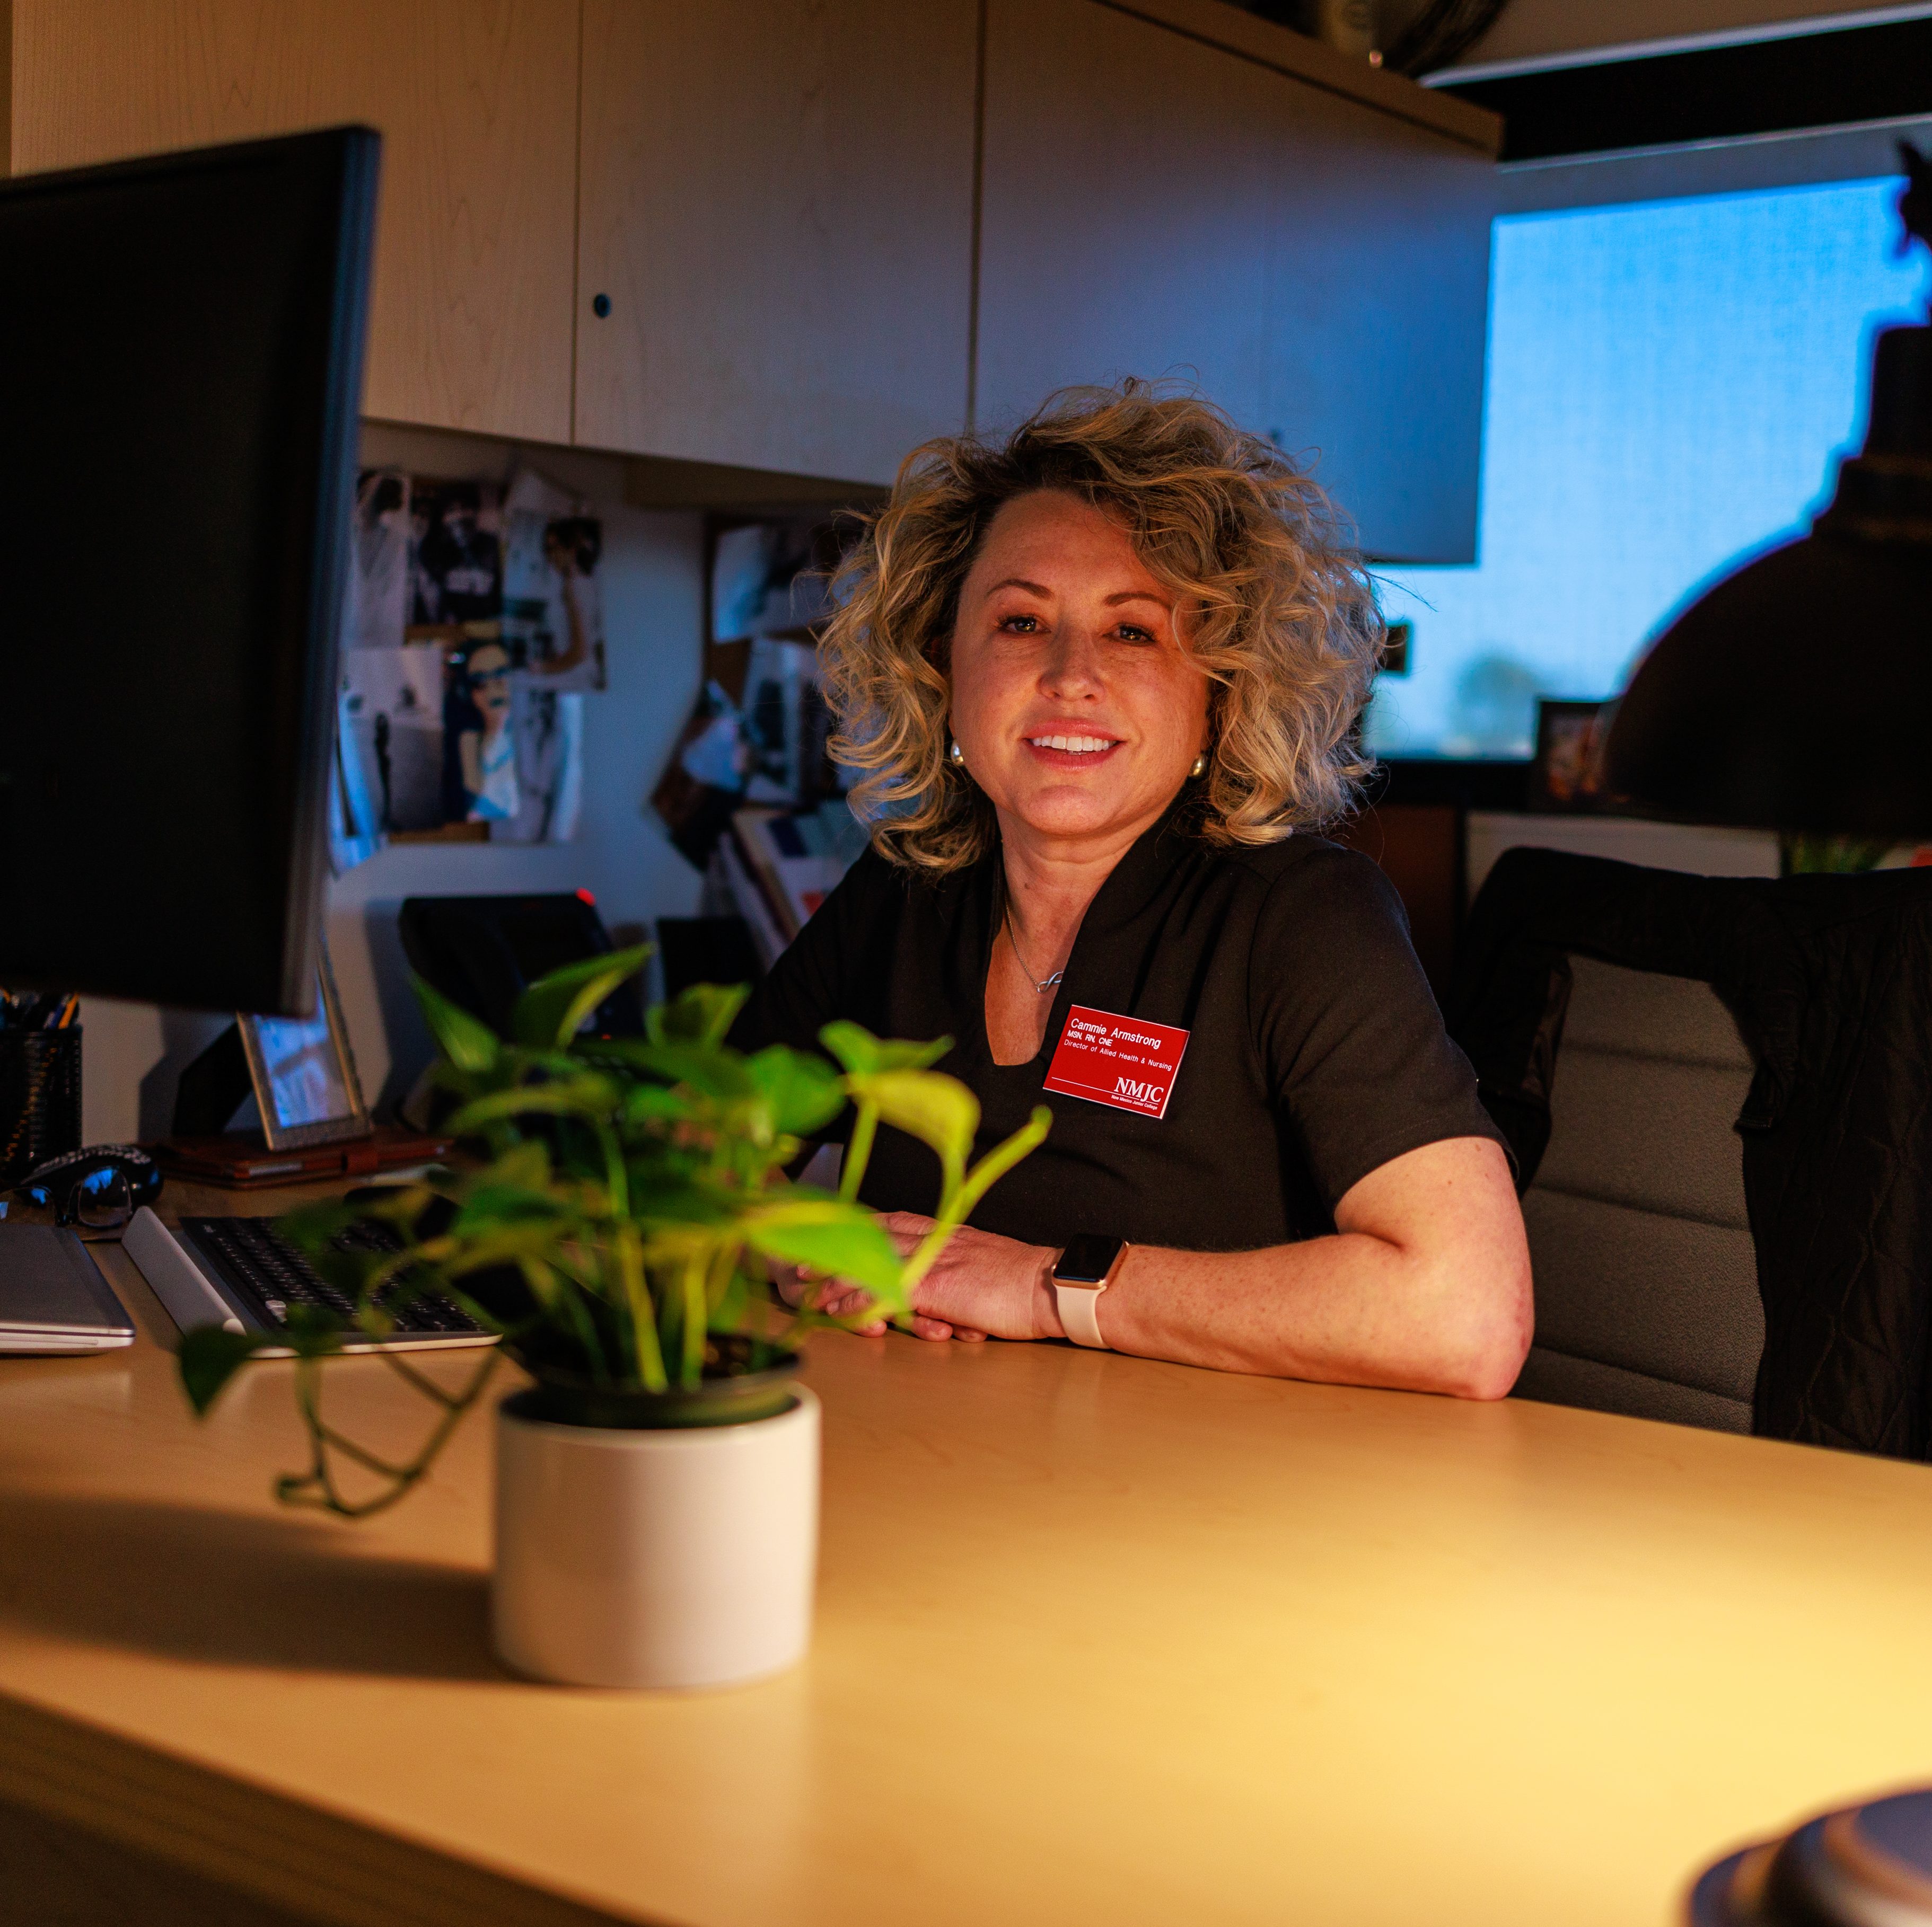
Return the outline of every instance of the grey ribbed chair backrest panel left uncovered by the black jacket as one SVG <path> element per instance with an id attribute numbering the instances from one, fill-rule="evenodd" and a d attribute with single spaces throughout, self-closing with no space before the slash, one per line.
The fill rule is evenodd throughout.
<path id="1" fill-rule="evenodd" d="M 1571 979 L 1515 1396 L 1748 1433 L 1764 1305 L 1731 1126 L 1750 1052 L 1692 977 L 1571 956 Z"/>

